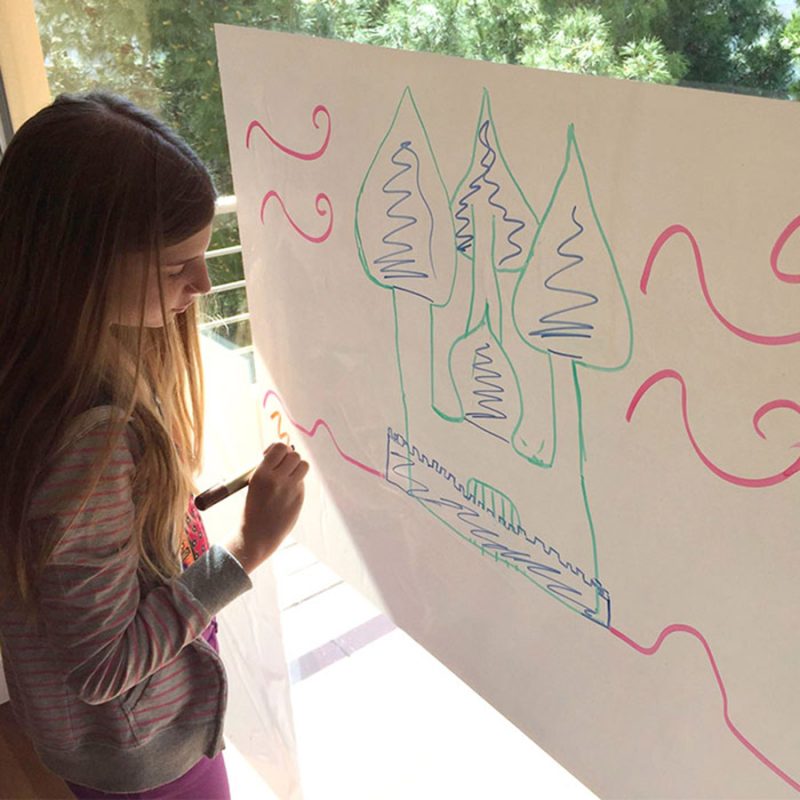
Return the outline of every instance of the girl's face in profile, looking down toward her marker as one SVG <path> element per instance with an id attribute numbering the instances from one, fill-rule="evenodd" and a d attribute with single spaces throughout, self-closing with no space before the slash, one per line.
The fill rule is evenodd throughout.
<path id="1" fill-rule="evenodd" d="M 161 314 L 161 301 L 158 294 L 158 276 L 161 273 L 161 286 L 164 292 L 164 310 L 167 317 L 185 311 L 197 295 L 208 294 L 211 281 L 208 278 L 205 252 L 211 240 L 211 225 L 207 225 L 182 242 L 165 247 L 159 253 L 158 264 L 150 265 L 147 282 L 147 297 L 144 307 L 146 328 L 160 328 L 164 324 Z M 141 262 L 139 262 L 140 264 Z M 125 269 L 119 284 L 119 303 L 121 323 L 137 326 L 139 324 L 139 275 L 141 267 L 131 262 Z"/>

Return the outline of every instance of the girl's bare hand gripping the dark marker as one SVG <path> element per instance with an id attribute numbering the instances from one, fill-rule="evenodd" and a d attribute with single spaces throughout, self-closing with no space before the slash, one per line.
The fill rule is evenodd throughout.
<path id="1" fill-rule="evenodd" d="M 308 463 L 283 442 L 264 451 L 247 488 L 242 527 L 227 543 L 247 573 L 269 558 L 294 527 L 303 505 Z"/>

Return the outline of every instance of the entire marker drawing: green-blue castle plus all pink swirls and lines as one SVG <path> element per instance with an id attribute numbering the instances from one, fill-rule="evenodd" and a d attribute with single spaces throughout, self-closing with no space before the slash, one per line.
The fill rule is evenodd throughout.
<path id="1" fill-rule="evenodd" d="M 332 117 L 325 106 L 314 108 L 312 123 L 316 134 L 312 132 L 295 149 L 253 120 L 247 128 L 246 147 L 272 147 L 280 153 L 279 158 L 300 163 L 321 159 L 332 130 Z M 353 474 L 388 481 L 431 514 L 440 529 L 446 527 L 476 553 L 490 556 L 491 562 L 505 567 L 514 580 L 520 576 L 536 584 L 641 655 L 656 655 L 673 635 L 692 637 L 705 651 L 729 731 L 763 766 L 800 790 L 800 783 L 767 758 L 734 723 L 711 637 L 706 639 L 691 625 L 670 624 L 647 646 L 611 624 L 610 594 L 600 580 L 602 552 L 598 553 L 590 509 L 592 486 L 587 485 L 583 470 L 591 437 L 587 444 L 581 376 L 585 369 L 624 369 L 631 358 L 633 330 L 612 243 L 601 225 L 603 210 L 595 207 L 590 190 L 591 159 L 587 168 L 579 150 L 580 131 L 572 125 L 566 127 L 566 155 L 554 185 L 549 179 L 538 186 L 520 184 L 514 177 L 515 164 L 507 161 L 500 145 L 497 129 L 502 133 L 502 120 L 496 126 L 490 97 L 484 92 L 469 159 L 470 138 L 464 136 L 464 162 L 468 165 L 463 177 L 448 187 L 410 89 L 403 92 L 394 117 L 390 120 L 387 115 L 386 124 L 385 136 L 373 143 L 375 156 L 361 165 L 364 178 L 356 202 L 355 239 L 350 241 L 357 245 L 368 279 L 391 294 L 395 335 L 388 349 L 397 362 L 402 418 L 386 420 L 382 469 L 359 460 L 357 453 L 349 450 L 352 442 L 340 445 L 324 419 L 317 418 L 313 424 L 292 419 L 281 397 L 269 390 L 264 405 L 272 404 L 275 409 L 270 420 L 275 423 L 276 435 L 288 441 L 291 425 L 293 433 L 308 439 L 319 434 L 329 440 L 326 446 L 336 450 Z M 452 156 L 448 153 L 448 158 Z M 552 167 L 558 159 L 558 153 L 542 154 L 543 166 Z M 543 169 L 542 174 L 551 172 Z M 286 184 L 277 188 L 280 194 L 268 186 L 263 187 L 267 189 L 263 195 L 259 193 L 261 224 L 293 230 L 303 240 L 302 247 L 327 242 L 334 226 L 328 195 L 311 192 L 305 206 L 297 199 L 287 206 L 283 199 Z M 540 215 L 527 199 L 534 196 L 550 198 Z M 321 221 L 309 213 L 312 198 Z M 784 246 L 798 229 L 800 217 L 786 225 L 770 257 L 774 276 L 785 283 L 800 280 L 787 271 L 788 259 L 783 258 Z M 685 236 L 692 247 L 706 305 L 731 333 L 756 344 L 798 341 L 797 333 L 753 333 L 727 319 L 708 292 L 697 240 L 682 225 L 664 229 L 655 240 L 642 275 L 643 294 L 660 251 L 677 234 Z M 417 334 L 415 340 L 409 338 L 409 329 Z M 420 332 L 425 347 L 410 350 L 407 343 L 418 342 Z M 427 376 L 423 384 L 418 379 L 420 365 Z M 640 386 L 628 407 L 629 422 L 645 394 L 662 383 L 673 392 L 675 384 L 679 385 L 689 441 L 717 478 L 760 488 L 781 483 L 800 469 L 797 459 L 775 474 L 751 478 L 715 464 L 694 438 L 687 411 L 689 392 L 675 369 L 660 369 Z M 422 421 L 421 385 L 430 412 Z M 577 422 L 570 420 L 565 427 L 564 411 L 570 407 L 577 411 Z M 762 404 L 752 418 L 762 439 L 766 433 L 761 421 L 777 409 L 800 413 L 800 406 L 792 400 Z M 620 409 L 620 415 L 623 412 Z M 515 498 L 514 491 L 504 486 L 511 480 L 509 472 L 492 474 L 487 467 L 478 474 L 429 446 L 431 420 L 453 438 L 470 434 L 472 440 L 482 437 L 490 443 L 494 453 L 502 448 L 509 456 L 506 466 L 516 465 L 512 471 L 526 475 L 531 485 L 565 466 L 566 437 L 573 437 L 580 458 L 567 463 L 566 469 L 576 473 L 580 486 L 575 505 L 583 513 L 583 547 L 568 541 L 563 531 L 537 530 L 529 498 Z M 284 423 L 288 423 L 286 427 Z M 494 464 L 502 461 L 487 459 Z M 486 561 L 494 569 L 494 564 Z"/>

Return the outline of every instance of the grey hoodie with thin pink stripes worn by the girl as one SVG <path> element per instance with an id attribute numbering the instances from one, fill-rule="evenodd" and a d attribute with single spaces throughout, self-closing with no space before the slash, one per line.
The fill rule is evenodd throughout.
<path id="1" fill-rule="evenodd" d="M 136 792 L 222 749 L 225 671 L 201 634 L 252 584 L 219 545 L 167 583 L 140 584 L 130 429 L 69 525 L 114 413 L 78 417 L 37 487 L 31 524 L 57 544 L 38 616 L 0 606 L 0 647 L 12 708 L 42 761 L 73 783 Z"/>

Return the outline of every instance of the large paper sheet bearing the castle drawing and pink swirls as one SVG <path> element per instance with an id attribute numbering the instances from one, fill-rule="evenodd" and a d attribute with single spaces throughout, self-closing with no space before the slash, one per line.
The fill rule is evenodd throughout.
<path id="1" fill-rule="evenodd" d="M 795 796 L 800 109 L 217 36 L 304 541 L 601 796 Z"/>

